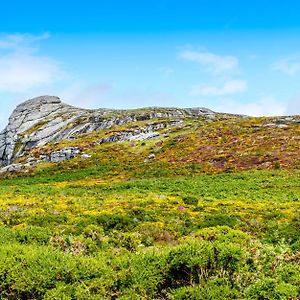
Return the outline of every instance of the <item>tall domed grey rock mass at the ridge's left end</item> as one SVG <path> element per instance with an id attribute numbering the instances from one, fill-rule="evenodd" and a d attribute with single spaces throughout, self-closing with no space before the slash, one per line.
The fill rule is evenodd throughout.
<path id="1" fill-rule="evenodd" d="M 19 105 L 0 134 L 0 164 L 8 165 L 25 149 L 55 140 L 81 114 L 57 97 L 39 97 Z"/>

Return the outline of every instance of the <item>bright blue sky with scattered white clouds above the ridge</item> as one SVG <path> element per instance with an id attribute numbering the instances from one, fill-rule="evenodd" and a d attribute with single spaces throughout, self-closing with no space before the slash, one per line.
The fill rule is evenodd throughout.
<path id="1" fill-rule="evenodd" d="M 3 1 L 0 128 L 17 104 L 300 114 L 295 0 Z"/>

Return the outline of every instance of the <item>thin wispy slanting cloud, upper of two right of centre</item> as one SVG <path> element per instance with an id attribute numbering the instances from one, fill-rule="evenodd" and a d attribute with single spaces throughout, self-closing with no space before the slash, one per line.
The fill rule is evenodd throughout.
<path id="1" fill-rule="evenodd" d="M 207 68 L 207 71 L 214 74 L 232 71 L 239 65 L 239 60 L 235 56 L 221 56 L 210 52 L 198 52 L 185 50 L 179 56 L 188 61 L 199 63 Z"/>

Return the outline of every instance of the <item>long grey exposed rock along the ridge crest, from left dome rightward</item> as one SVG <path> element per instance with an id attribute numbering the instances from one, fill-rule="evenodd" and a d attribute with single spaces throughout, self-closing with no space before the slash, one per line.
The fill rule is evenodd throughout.
<path id="1" fill-rule="evenodd" d="M 0 133 L 0 166 L 12 164 L 30 148 L 63 139 L 72 139 L 80 133 L 154 118 L 170 118 L 169 123 L 171 124 L 180 122 L 186 117 L 214 119 L 216 115 L 213 111 L 205 108 L 88 110 L 64 104 L 58 97 L 41 96 L 20 104 L 10 116 L 7 127 Z M 127 138 L 151 138 L 153 136 L 151 131 L 161 128 L 161 126 L 165 125 L 157 124 L 152 126 L 153 128 L 140 130 L 136 134 L 130 133 Z M 135 138 L 134 135 L 139 136 Z M 57 155 L 59 156 L 59 154 Z"/>

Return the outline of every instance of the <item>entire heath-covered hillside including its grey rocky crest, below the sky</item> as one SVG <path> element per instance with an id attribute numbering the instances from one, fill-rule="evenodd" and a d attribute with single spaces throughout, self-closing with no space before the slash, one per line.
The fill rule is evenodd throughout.
<path id="1" fill-rule="evenodd" d="M 300 116 L 44 96 L 0 153 L 3 299 L 300 298 Z"/>

